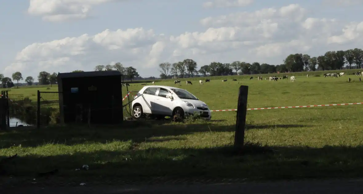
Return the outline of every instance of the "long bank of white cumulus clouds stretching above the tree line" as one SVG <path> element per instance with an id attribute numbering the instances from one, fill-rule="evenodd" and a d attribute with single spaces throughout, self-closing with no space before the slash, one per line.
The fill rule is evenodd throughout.
<path id="1" fill-rule="evenodd" d="M 200 22 L 204 31 L 172 36 L 144 28 L 106 29 L 33 43 L 17 54 L 4 73 L 92 70 L 95 65 L 117 61 L 134 66 L 142 76 L 158 76 L 158 64 L 166 61 L 192 58 L 199 66 L 236 60 L 276 65 L 291 53 L 318 56 L 328 50 L 359 48 L 363 43 L 363 22 L 310 17 L 298 4 L 207 17 Z"/>

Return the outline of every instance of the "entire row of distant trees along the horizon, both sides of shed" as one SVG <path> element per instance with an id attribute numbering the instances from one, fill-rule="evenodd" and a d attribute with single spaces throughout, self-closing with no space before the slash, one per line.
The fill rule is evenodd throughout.
<path id="1" fill-rule="evenodd" d="M 280 65 L 260 64 L 259 62 L 233 61 L 232 63 L 211 62 L 209 65 L 203 65 L 197 69 L 197 62 L 192 59 L 185 59 L 183 61 L 163 62 L 159 64 L 160 78 L 177 78 L 194 77 L 194 76 L 227 76 L 233 74 L 266 74 L 276 72 L 302 72 L 302 71 L 317 71 L 317 70 L 338 70 L 344 67 L 357 69 L 363 67 L 363 50 L 359 48 L 349 50 L 328 51 L 324 55 L 318 57 L 311 57 L 308 54 L 295 53 L 287 56 L 283 63 Z M 124 67 L 120 62 L 114 65 L 97 65 L 94 71 L 108 71 L 117 70 L 122 74 L 122 81 L 140 79 L 137 70 L 132 67 Z M 73 72 L 83 72 L 83 70 L 74 70 Z M 154 78 L 155 77 L 150 77 Z M 3 88 L 12 87 L 17 82 L 24 80 L 21 72 L 15 72 L 12 77 L 4 77 L 0 74 L 1 85 Z M 40 85 L 57 84 L 57 73 L 48 73 L 42 71 L 37 77 Z M 34 78 L 28 76 L 25 78 L 28 85 L 34 84 Z"/>

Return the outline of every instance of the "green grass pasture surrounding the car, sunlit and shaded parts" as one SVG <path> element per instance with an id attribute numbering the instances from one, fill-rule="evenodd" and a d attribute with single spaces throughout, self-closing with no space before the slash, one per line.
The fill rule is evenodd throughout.
<path id="1" fill-rule="evenodd" d="M 213 110 L 236 109 L 240 85 L 249 86 L 248 108 L 361 102 L 363 82 L 350 77 L 350 83 L 347 77 L 301 76 L 294 83 L 243 79 L 240 84 L 212 80 L 201 86 L 196 81 L 175 86 L 187 89 Z M 174 86 L 174 82 L 158 85 Z M 42 90 L 19 88 L 9 93 L 32 96 L 38 89 Z M 0 133 L 0 156 L 20 156 L 5 167 L 11 175 L 29 177 L 59 169 L 52 181 L 93 184 L 150 177 L 362 177 L 358 170 L 363 167 L 362 113 L 363 105 L 249 110 L 244 155 L 231 154 L 236 113 L 229 111 L 213 112 L 209 122 L 128 121 L 125 126 Z M 88 171 L 75 171 L 84 164 L 89 165 Z"/>

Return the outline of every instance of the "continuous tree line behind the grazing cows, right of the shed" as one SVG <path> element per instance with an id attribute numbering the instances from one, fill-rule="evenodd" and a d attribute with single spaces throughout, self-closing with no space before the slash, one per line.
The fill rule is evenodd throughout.
<path id="1" fill-rule="evenodd" d="M 197 70 L 197 63 L 191 59 L 185 59 L 173 64 L 164 62 L 159 64 L 160 77 L 168 78 L 176 76 L 180 78 L 193 77 L 196 74 L 203 76 L 227 76 L 233 74 L 266 74 L 276 72 L 302 72 L 317 70 L 337 70 L 346 66 L 352 69 L 363 66 L 363 50 L 349 49 L 328 51 L 322 56 L 311 57 L 308 54 L 295 53 L 287 56 L 280 65 L 260 64 L 259 62 L 234 61 L 232 63 L 211 62 Z M 170 72 L 171 76 L 168 76 Z"/>

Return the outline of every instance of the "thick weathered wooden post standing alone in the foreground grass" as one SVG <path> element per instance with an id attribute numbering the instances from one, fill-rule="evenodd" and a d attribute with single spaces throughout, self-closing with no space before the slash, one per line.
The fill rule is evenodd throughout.
<path id="1" fill-rule="evenodd" d="M 236 132 L 234 133 L 234 149 L 240 151 L 245 138 L 248 86 L 241 85 L 238 92 Z"/>

